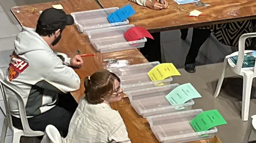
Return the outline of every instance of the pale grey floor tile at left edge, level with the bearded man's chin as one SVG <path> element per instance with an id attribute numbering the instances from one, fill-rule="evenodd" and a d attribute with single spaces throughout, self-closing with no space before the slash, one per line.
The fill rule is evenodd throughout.
<path id="1" fill-rule="evenodd" d="M 16 36 L 0 38 L 0 51 L 11 50 L 14 49 L 14 40 Z"/>

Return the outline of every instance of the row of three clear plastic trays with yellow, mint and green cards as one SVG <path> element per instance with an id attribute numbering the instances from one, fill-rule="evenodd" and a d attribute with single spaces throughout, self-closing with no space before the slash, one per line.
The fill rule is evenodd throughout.
<path id="1" fill-rule="evenodd" d="M 190 121 L 202 109 L 192 110 L 194 100 L 172 106 L 165 98 L 179 84 L 171 84 L 172 78 L 152 82 L 147 73 L 159 62 L 143 63 L 110 69 L 121 79 L 121 88 L 130 99 L 134 110 L 148 120 L 156 138 L 163 143 L 184 143 L 213 138 L 216 127 L 195 132 Z M 162 84 L 160 84 L 162 83 Z M 160 84 L 160 86 L 158 86 Z"/>

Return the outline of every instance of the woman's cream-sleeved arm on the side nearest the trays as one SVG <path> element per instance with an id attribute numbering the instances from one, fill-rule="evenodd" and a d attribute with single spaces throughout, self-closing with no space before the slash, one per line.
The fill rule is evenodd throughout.
<path id="1" fill-rule="evenodd" d="M 126 126 L 120 115 L 119 118 L 113 120 L 112 127 L 111 135 L 108 137 L 110 143 L 131 143 Z"/>

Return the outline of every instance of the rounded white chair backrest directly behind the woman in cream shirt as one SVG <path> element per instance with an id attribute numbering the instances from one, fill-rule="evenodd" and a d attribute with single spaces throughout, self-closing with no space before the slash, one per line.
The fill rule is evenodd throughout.
<path id="1" fill-rule="evenodd" d="M 62 143 L 60 132 L 54 125 L 47 125 L 45 132 L 50 139 L 50 143 Z"/>

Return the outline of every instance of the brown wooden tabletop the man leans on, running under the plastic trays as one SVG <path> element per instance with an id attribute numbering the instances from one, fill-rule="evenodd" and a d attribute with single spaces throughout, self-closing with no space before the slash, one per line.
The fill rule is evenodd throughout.
<path id="1" fill-rule="evenodd" d="M 93 0 L 64 0 L 59 2 L 33 4 L 29 6 L 18 6 L 12 8 L 11 11 L 21 25 L 35 28 L 40 15 L 39 11 L 50 8 L 54 4 L 61 4 L 67 14 L 70 14 L 70 12 L 100 8 Z M 79 33 L 75 25 L 67 26 L 62 33 L 62 39 L 60 42 L 52 48 L 56 51 L 66 53 L 67 55 L 74 55 L 77 50 L 81 50 L 81 54 L 96 53 L 92 45 L 90 45 L 88 37 Z M 96 53 L 94 57 L 84 58 L 83 67 L 75 70 L 81 78 L 80 90 L 73 92 L 72 94 L 77 101 L 80 100 L 84 93 L 83 79 L 86 76 L 90 76 L 95 71 L 103 69 L 102 59 L 107 58 L 132 59 L 130 60 L 130 65 L 148 62 L 138 49 L 107 54 Z M 158 143 L 158 140 L 152 133 L 146 119 L 138 116 L 130 105 L 128 98 L 123 98 L 121 101 L 111 104 L 111 107 L 118 110 L 124 119 L 129 137 L 133 143 Z M 208 141 L 210 141 L 210 143 L 222 143 L 218 137 L 214 137 L 213 139 L 206 141 L 195 141 L 192 143 L 208 143 Z"/>

